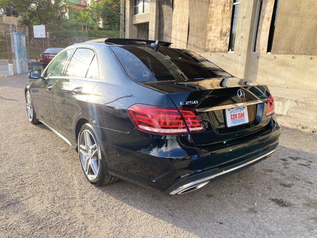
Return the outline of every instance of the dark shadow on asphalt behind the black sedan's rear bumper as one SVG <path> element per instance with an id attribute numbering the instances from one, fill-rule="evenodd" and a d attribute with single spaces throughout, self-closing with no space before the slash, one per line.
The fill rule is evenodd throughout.
<path id="1" fill-rule="evenodd" d="M 245 234 L 245 226 L 250 224 L 257 229 L 260 226 L 263 232 L 271 235 L 276 235 L 270 233 L 272 230 L 282 227 L 287 234 L 294 222 L 302 223 L 298 225 L 312 232 L 317 223 L 316 196 L 315 200 L 311 199 L 317 183 L 313 169 L 316 161 L 312 160 L 315 157 L 315 154 L 279 146 L 271 158 L 182 195 L 165 196 L 127 181 L 117 181 L 99 189 L 198 236 L 211 234 L 207 232 L 213 228 L 232 226 L 237 233 L 241 230 Z M 251 226 L 250 235 L 252 229 Z"/>

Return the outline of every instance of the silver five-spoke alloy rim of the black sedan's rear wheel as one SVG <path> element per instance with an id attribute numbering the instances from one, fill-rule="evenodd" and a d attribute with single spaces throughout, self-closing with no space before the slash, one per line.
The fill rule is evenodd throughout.
<path id="1" fill-rule="evenodd" d="M 94 135 L 83 130 L 79 137 L 79 156 L 83 170 L 89 180 L 95 180 L 99 174 L 100 156 Z"/>

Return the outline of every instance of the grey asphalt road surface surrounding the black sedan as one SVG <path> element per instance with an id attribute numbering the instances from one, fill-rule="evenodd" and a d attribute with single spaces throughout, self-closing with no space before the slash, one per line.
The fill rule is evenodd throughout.
<path id="1" fill-rule="evenodd" d="M 77 153 L 26 118 L 27 75 L 0 77 L 0 237 L 317 237 L 317 135 L 184 195 L 86 181 Z"/>

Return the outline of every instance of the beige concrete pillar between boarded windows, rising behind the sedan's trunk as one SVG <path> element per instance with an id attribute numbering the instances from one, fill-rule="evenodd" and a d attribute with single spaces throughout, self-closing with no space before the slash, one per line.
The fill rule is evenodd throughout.
<path id="1" fill-rule="evenodd" d="M 235 76 L 246 78 L 249 69 L 249 58 L 252 50 L 254 21 L 258 0 L 240 1 L 236 42 L 234 47 L 234 62 L 239 67 Z M 229 53 L 228 53 L 229 54 Z"/>

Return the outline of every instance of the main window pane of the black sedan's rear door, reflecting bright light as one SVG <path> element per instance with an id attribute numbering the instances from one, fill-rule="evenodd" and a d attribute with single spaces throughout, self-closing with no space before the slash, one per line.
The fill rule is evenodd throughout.
<path id="1" fill-rule="evenodd" d="M 78 48 L 69 61 L 65 76 L 86 77 L 95 53 L 91 49 Z"/>

